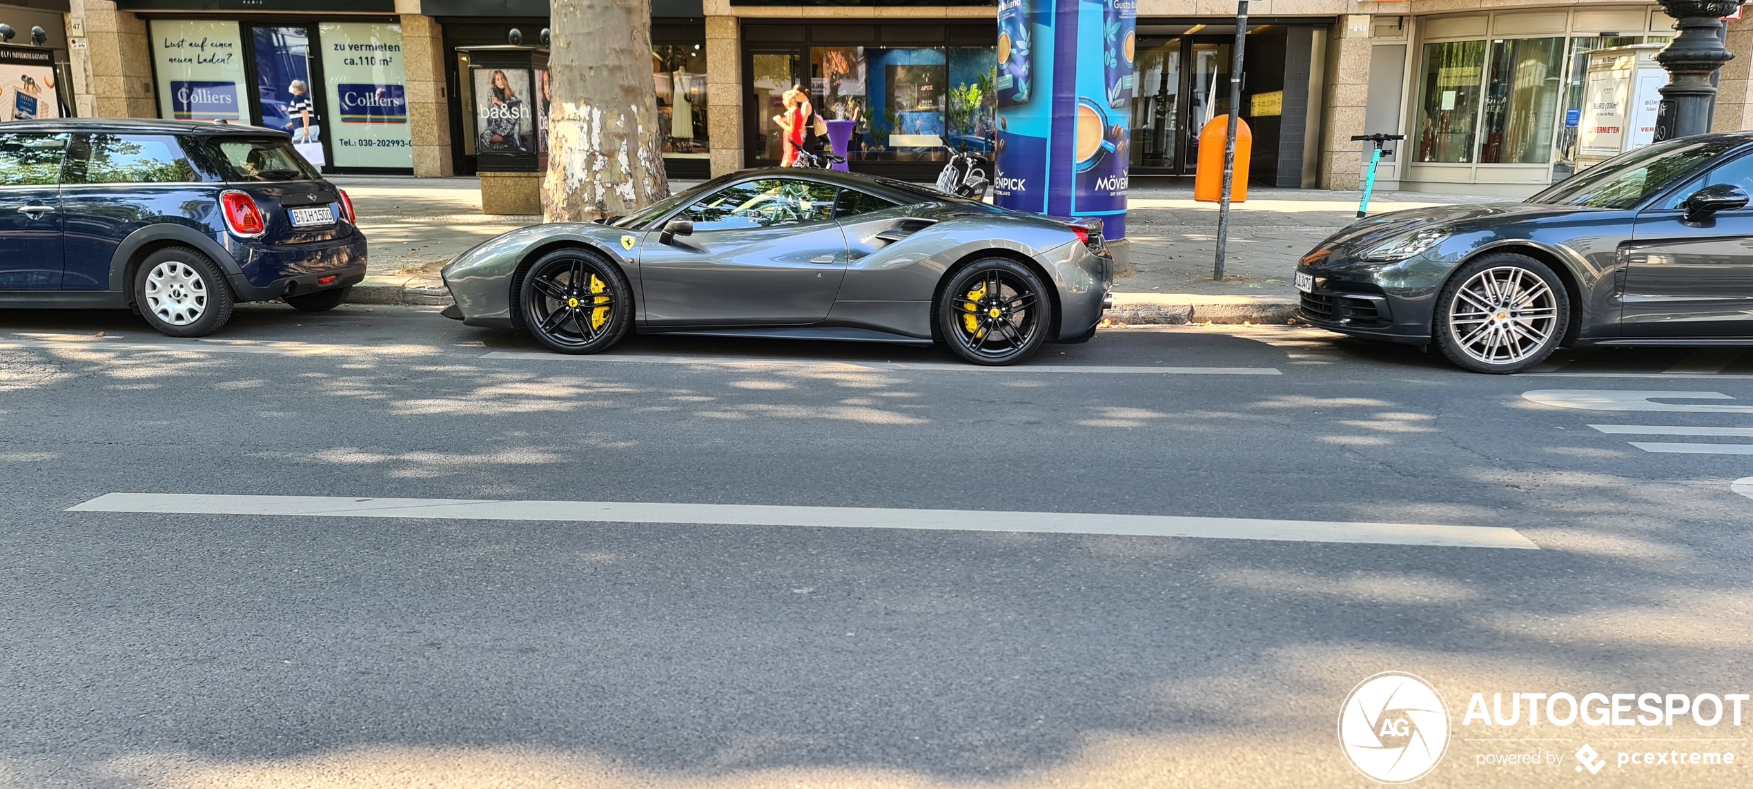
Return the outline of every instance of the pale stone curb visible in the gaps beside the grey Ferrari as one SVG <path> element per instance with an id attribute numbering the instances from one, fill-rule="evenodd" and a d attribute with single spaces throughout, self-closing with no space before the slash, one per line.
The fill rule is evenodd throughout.
<path id="1" fill-rule="evenodd" d="M 442 281 L 424 277 L 365 277 L 352 286 L 349 303 L 449 307 L 451 291 Z M 1113 309 L 1103 316 L 1110 326 L 1287 324 L 1297 303 L 1267 296 L 1211 296 L 1199 293 L 1115 293 Z"/>

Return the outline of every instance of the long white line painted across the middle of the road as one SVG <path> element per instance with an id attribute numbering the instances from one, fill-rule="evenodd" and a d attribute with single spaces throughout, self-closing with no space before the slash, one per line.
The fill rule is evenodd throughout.
<path id="1" fill-rule="evenodd" d="M 1271 521 L 1246 517 L 1111 515 L 1087 512 L 903 510 L 643 501 L 494 501 L 456 498 L 224 496 L 107 493 L 70 512 L 177 512 L 203 515 L 447 517 L 468 521 L 652 522 L 813 526 L 869 530 L 1027 531 L 1068 535 L 1203 537 L 1381 545 L 1532 549 L 1502 526 Z"/>

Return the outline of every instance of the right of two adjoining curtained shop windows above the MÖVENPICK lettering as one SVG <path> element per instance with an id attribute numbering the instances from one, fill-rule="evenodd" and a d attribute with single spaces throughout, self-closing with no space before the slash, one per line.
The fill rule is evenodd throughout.
<path id="1" fill-rule="evenodd" d="M 1564 39 L 1492 42 L 1480 163 L 1544 165 L 1564 84 Z"/>

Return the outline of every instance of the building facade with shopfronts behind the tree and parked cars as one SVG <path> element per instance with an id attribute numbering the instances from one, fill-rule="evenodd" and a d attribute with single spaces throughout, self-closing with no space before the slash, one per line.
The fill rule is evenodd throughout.
<path id="1" fill-rule="evenodd" d="M 777 161 L 771 116 L 791 86 L 855 121 L 857 170 L 920 177 L 943 146 L 990 144 L 994 0 L 780 2 L 652 0 L 673 177 Z M 1529 195 L 1579 165 L 1588 53 L 1674 35 L 1658 5 L 1630 0 L 1250 11 L 1239 109 L 1252 179 L 1274 186 L 1357 188 L 1367 153 L 1350 137 L 1383 132 L 1406 140 L 1383 158 L 1381 188 Z M 494 144 L 477 128 L 468 47 L 514 30 L 536 44 L 547 14 L 547 0 L 0 0 L 0 23 L 51 19 L 53 32 L 42 46 L 0 42 L 0 77 L 9 51 L 42 51 L 67 112 L 286 128 L 333 172 L 468 174 Z M 1229 110 L 1232 14 L 1232 0 L 1138 0 L 1132 174 L 1192 174 L 1199 128 Z M 1732 21 L 1727 44 L 1737 58 L 1714 124 L 1746 128 L 1753 26 Z"/>

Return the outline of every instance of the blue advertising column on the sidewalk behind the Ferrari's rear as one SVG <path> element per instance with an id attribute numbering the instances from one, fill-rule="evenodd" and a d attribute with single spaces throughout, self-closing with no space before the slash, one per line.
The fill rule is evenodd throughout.
<path id="1" fill-rule="evenodd" d="M 999 0 L 994 202 L 1125 237 L 1134 0 Z"/>

